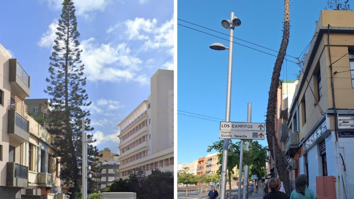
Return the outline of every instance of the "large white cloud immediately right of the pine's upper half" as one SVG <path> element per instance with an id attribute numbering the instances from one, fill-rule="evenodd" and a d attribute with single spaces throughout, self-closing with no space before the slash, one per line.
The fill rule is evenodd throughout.
<path id="1" fill-rule="evenodd" d="M 120 82 L 137 81 L 148 84 L 147 79 L 140 78 L 142 61 L 125 43 L 113 46 L 112 44 L 94 43 L 90 38 L 81 42 L 81 60 L 85 64 L 85 75 L 91 81 Z"/>

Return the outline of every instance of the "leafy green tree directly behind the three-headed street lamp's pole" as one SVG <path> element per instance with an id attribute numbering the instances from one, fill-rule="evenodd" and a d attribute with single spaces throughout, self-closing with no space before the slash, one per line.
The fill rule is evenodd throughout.
<path id="1" fill-rule="evenodd" d="M 218 153 L 218 163 L 220 164 L 218 174 L 221 174 L 222 170 L 222 151 L 223 151 L 223 141 L 219 140 L 217 142 L 213 142 L 213 145 L 208 146 L 208 149 L 206 150 L 207 152 L 211 152 L 211 150 L 216 150 Z M 240 162 L 240 143 L 234 144 L 232 140 L 229 141 L 229 152 L 228 152 L 228 158 L 227 158 L 227 170 L 228 170 L 228 176 L 229 176 L 229 198 L 231 199 L 231 175 L 234 174 L 234 167 L 237 166 L 239 169 L 238 163 Z M 242 172 L 242 169 L 240 169 L 240 172 Z M 226 174 L 221 174 L 221 175 L 226 175 Z M 220 188 L 222 189 L 222 188 Z"/>

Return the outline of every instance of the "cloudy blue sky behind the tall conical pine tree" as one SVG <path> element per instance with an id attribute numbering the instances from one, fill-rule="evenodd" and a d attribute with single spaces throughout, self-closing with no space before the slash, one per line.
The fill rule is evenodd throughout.
<path id="1" fill-rule="evenodd" d="M 49 56 L 62 0 L 1 1 L 0 43 L 31 77 L 29 98 L 48 98 Z M 118 152 L 116 126 L 150 93 L 150 76 L 173 69 L 173 0 L 74 0 L 93 133 Z"/>

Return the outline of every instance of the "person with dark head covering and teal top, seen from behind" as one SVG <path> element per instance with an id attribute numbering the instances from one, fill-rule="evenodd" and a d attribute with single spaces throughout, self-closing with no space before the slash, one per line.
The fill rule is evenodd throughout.
<path id="1" fill-rule="evenodd" d="M 315 199 L 313 191 L 306 187 L 306 175 L 299 175 L 295 179 L 295 190 L 291 192 L 290 199 Z"/>

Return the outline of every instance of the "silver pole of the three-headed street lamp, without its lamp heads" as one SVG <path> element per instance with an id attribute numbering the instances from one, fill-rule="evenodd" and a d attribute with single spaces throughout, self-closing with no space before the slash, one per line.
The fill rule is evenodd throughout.
<path id="1" fill-rule="evenodd" d="M 231 12 L 231 21 L 234 18 L 234 12 Z M 230 108 L 231 108 L 231 81 L 232 81 L 232 49 L 234 41 L 234 28 L 230 28 L 230 43 L 229 43 L 229 63 L 227 69 L 227 88 L 226 88 L 226 108 L 225 108 L 225 121 L 230 121 Z M 221 166 L 221 182 L 220 182 L 220 198 L 225 198 L 226 193 L 226 171 L 227 171 L 227 157 L 229 152 L 229 140 L 224 139 L 223 157 Z M 231 188 L 231 187 L 230 187 Z"/>

